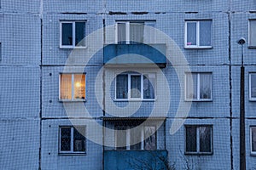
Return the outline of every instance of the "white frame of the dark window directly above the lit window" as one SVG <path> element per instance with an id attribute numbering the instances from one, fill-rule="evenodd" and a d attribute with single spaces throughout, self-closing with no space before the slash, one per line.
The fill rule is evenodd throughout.
<path id="1" fill-rule="evenodd" d="M 84 22 L 84 29 L 86 31 L 86 20 L 61 20 L 60 21 L 60 48 L 86 48 L 86 44 L 84 46 L 76 46 L 75 45 L 75 35 L 76 35 L 76 22 Z M 72 24 L 72 37 L 73 37 L 73 45 L 62 45 L 62 24 Z M 84 35 L 85 37 L 85 35 Z"/>

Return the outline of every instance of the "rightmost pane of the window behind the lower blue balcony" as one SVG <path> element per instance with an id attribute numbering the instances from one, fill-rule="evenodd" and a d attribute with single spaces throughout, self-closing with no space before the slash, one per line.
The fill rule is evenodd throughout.
<path id="1" fill-rule="evenodd" d="M 156 150 L 155 127 L 144 127 L 144 149 Z"/>

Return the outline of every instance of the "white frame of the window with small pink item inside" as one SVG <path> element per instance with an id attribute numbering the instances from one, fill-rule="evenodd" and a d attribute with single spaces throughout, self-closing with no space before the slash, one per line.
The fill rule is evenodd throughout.
<path id="1" fill-rule="evenodd" d="M 185 20 L 185 31 L 184 31 L 184 48 L 212 48 L 212 27 L 211 27 L 211 45 L 201 46 L 200 45 L 200 22 L 207 20 Z M 209 20 L 212 21 L 212 20 Z M 196 45 L 188 45 L 188 23 L 196 23 Z"/>

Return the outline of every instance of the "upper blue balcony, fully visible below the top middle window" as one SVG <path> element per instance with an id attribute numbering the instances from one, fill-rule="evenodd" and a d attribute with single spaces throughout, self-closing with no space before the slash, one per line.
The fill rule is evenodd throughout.
<path id="1" fill-rule="evenodd" d="M 158 65 L 166 67 L 166 44 L 108 44 L 103 49 L 108 66 Z"/>

